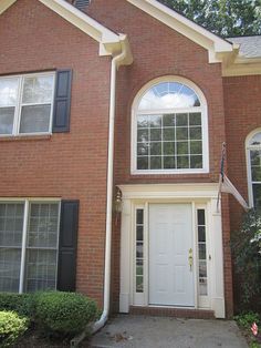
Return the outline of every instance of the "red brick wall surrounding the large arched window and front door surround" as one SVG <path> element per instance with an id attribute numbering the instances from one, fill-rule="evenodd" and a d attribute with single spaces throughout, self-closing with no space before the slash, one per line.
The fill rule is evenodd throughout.
<path id="1" fill-rule="evenodd" d="M 117 10 L 115 10 L 117 9 Z M 217 182 L 221 144 L 226 141 L 223 92 L 220 64 L 208 63 L 208 52 L 174 32 L 156 19 L 122 0 L 93 0 L 90 16 L 106 27 L 126 33 L 134 63 L 121 68 L 117 79 L 115 183 L 195 183 Z M 137 92 L 150 80 L 179 75 L 195 82 L 208 102 L 210 139 L 210 174 L 198 175 L 130 175 L 130 110 Z M 228 203 L 225 198 L 223 239 L 229 240 Z M 119 228 L 114 232 L 113 296 L 118 303 Z M 228 315 L 232 311 L 231 265 L 229 247 L 225 247 L 225 277 Z"/>

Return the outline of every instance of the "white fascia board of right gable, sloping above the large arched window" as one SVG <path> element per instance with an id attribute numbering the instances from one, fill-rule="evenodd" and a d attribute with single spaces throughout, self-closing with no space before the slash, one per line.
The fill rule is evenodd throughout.
<path id="1" fill-rule="evenodd" d="M 184 16 L 167 8 L 156 0 L 127 0 L 133 6 L 163 22 L 165 25 L 187 37 L 209 51 L 209 62 L 220 62 L 216 53 L 232 52 L 233 45 L 215 35 L 207 29 L 196 24 Z"/>

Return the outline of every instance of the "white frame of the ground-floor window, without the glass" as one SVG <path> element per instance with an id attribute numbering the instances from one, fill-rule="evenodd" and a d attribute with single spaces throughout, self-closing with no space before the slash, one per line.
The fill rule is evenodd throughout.
<path id="1" fill-rule="evenodd" d="M 21 244 L 21 266 L 20 266 L 20 279 L 19 279 L 19 294 L 24 293 L 24 272 L 25 272 L 25 254 L 27 254 L 27 237 L 28 237 L 28 225 L 29 225 L 29 214 L 30 214 L 30 204 L 31 203 L 56 203 L 59 204 L 59 215 L 58 215 L 58 242 L 56 242 L 56 277 L 55 277 L 55 289 L 58 286 L 58 260 L 59 260 L 59 243 L 60 243 L 60 221 L 61 221 L 61 199 L 58 198 L 4 198 L 0 197 L 0 203 L 23 203 L 23 231 L 22 231 L 22 244 Z"/>

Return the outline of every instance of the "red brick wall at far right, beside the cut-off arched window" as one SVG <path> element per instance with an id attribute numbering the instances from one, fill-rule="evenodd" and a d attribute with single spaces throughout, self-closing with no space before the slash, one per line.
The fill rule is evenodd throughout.
<path id="1" fill-rule="evenodd" d="M 248 178 L 244 142 L 248 134 L 261 126 L 261 76 L 225 78 L 226 133 L 229 178 L 248 202 Z M 242 221 L 243 209 L 230 197 L 231 233 Z M 236 277 L 234 277 L 236 279 Z M 234 282 L 236 304 L 240 294 Z"/>

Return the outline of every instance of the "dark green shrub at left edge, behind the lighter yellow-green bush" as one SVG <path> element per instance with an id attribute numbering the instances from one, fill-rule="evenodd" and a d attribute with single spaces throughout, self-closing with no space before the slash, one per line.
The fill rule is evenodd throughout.
<path id="1" fill-rule="evenodd" d="M 0 293 L 0 310 L 17 311 L 20 316 L 34 317 L 35 296 L 33 294 Z"/>

